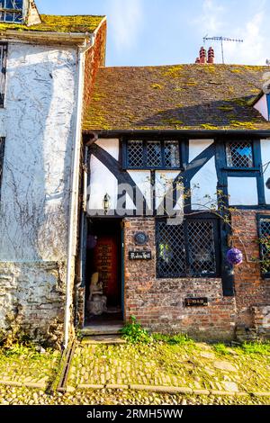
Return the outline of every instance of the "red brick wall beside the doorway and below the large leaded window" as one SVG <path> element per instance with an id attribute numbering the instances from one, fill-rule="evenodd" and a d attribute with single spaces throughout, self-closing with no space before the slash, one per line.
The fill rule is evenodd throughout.
<path id="1" fill-rule="evenodd" d="M 137 247 L 134 234 L 143 229 L 148 245 Z M 125 320 L 131 315 L 156 331 L 188 332 L 197 338 L 232 338 L 236 321 L 235 298 L 223 297 L 220 279 L 156 278 L 155 220 L 126 219 Z M 152 260 L 130 261 L 130 250 L 151 250 Z M 184 298 L 208 297 L 207 307 L 184 307 Z"/>

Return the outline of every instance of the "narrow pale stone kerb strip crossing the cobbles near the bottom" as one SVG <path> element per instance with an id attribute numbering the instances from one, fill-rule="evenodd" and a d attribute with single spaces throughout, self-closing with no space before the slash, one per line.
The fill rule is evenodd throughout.
<path id="1" fill-rule="evenodd" d="M 67 386 L 67 392 L 70 390 L 74 390 L 75 388 Z M 84 390 L 84 389 L 113 389 L 113 390 L 131 390 L 131 391 L 148 391 L 148 392 L 164 392 L 164 393 L 184 393 L 186 395 L 228 395 L 228 396 L 247 396 L 247 395 L 254 395 L 257 397 L 270 397 L 270 392 L 229 392 L 229 391 L 216 391 L 216 390 L 193 390 L 191 388 L 183 387 L 176 387 L 176 386 L 152 386 L 152 385 L 139 385 L 139 384 L 128 384 L 128 385 L 121 385 L 121 384 L 79 384 L 77 389 Z"/>

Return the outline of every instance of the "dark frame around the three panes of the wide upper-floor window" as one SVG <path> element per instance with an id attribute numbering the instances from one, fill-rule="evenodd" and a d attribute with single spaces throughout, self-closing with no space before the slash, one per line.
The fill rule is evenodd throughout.
<path id="1" fill-rule="evenodd" d="M 142 157 L 142 166 L 130 166 L 128 160 L 128 143 L 132 141 L 141 141 L 143 146 L 143 157 Z M 150 142 L 160 142 L 161 144 L 161 166 L 148 166 L 148 149 L 147 145 Z M 166 142 L 177 142 L 178 143 L 178 155 L 179 155 L 179 166 L 166 166 L 166 158 L 165 158 L 165 145 Z M 184 170 L 183 167 L 183 148 L 182 143 L 184 142 L 183 139 L 122 139 L 122 168 L 125 170 Z"/>

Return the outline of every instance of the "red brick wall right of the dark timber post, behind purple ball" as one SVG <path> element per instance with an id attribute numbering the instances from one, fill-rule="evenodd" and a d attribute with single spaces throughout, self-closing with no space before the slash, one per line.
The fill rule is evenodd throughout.
<path id="1" fill-rule="evenodd" d="M 262 278 L 257 234 L 257 212 L 237 211 L 232 215 L 233 246 L 244 252 L 244 262 L 235 268 L 237 324 L 248 328 L 256 326 L 252 306 L 270 304 L 270 281 Z M 270 214 L 270 211 L 259 211 Z M 256 260 L 256 261 L 255 261 Z"/>

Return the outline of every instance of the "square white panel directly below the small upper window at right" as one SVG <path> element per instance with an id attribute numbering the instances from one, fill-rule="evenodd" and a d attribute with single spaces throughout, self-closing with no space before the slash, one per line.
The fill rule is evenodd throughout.
<path id="1" fill-rule="evenodd" d="M 257 205 L 257 178 L 229 177 L 229 205 Z"/>

